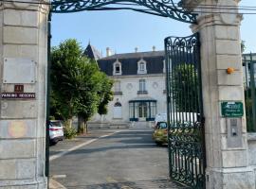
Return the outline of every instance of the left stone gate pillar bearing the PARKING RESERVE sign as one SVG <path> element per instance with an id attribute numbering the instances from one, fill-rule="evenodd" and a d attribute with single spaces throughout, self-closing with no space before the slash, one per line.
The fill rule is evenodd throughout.
<path id="1" fill-rule="evenodd" d="M 46 188 L 44 1 L 1 2 L 0 188 Z"/>

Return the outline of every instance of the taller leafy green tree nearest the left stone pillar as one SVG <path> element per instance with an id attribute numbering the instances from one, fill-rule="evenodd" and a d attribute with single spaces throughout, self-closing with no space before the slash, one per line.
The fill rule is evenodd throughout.
<path id="1" fill-rule="evenodd" d="M 74 71 L 82 61 L 82 48 L 76 40 L 66 40 L 51 49 L 51 109 L 67 121 L 71 127 L 72 116 L 76 113 L 78 96 L 74 79 Z"/>

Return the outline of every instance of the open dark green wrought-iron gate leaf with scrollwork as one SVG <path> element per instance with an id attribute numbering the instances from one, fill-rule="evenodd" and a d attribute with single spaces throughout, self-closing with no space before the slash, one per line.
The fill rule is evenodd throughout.
<path id="1" fill-rule="evenodd" d="M 205 188 L 199 34 L 165 39 L 170 177 Z"/>

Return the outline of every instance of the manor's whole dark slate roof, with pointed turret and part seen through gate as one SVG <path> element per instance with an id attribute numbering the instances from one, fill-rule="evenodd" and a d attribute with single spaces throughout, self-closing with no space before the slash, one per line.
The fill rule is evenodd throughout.
<path id="1" fill-rule="evenodd" d="M 108 76 L 113 76 L 113 64 L 117 60 L 121 63 L 121 76 L 137 75 L 137 62 L 141 59 L 146 61 L 147 74 L 162 74 L 163 73 L 163 60 L 165 59 L 164 51 L 149 51 L 137 53 L 123 53 L 115 54 L 109 57 L 101 58 L 101 53 L 88 44 L 84 51 L 84 55 L 90 59 L 97 60 L 98 65 L 102 72 Z M 194 62 L 197 66 L 197 59 L 190 53 L 188 54 L 175 54 L 172 57 L 173 63 L 181 62 Z"/>

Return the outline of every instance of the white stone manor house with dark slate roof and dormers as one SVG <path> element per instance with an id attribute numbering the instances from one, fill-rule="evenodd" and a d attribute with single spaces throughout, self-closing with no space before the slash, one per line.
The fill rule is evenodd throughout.
<path id="1" fill-rule="evenodd" d="M 106 57 L 88 44 L 84 55 L 97 60 L 102 72 L 114 80 L 114 98 L 108 105 L 108 113 L 96 115 L 91 124 L 150 125 L 155 114 L 166 112 L 166 87 L 164 51 L 136 52 Z"/>

